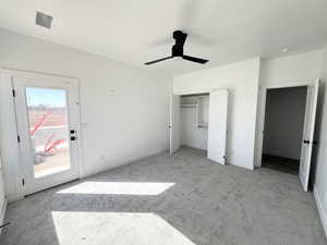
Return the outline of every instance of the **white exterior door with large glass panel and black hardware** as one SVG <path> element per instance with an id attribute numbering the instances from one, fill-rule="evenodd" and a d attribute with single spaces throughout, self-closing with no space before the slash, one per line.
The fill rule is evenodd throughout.
<path id="1" fill-rule="evenodd" d="M 78 179 L 78 83 L 56 76 L 12 83 L 23 194 Z"/>

